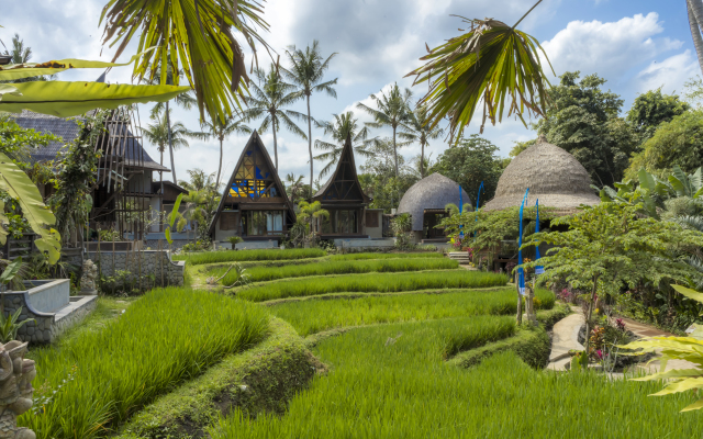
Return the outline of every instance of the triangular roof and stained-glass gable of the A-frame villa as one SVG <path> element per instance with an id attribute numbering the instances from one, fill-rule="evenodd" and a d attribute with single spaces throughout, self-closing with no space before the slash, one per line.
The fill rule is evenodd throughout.
<path id="1" fill-rule="evenodd" d="M 266 203 L 271 199 L 286 203 L 289 213 L 293 215 L 293 221 L 295 219 L 293 205 L 286 194 L 286 188 L 276 172 L 276 167 L 266 146 L 264 146 L 264 142 L 261 142 L 261 137 L 255 130 L 242 150 L 234 172 L 222 192 L 220 205 L 210 223 L 210 233 L 214 230 L 225 203 Z"/>

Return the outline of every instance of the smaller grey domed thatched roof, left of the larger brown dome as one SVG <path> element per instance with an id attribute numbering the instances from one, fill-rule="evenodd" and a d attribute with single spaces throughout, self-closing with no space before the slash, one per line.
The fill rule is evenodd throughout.
<path id="1" fill-rule="evenodd" d="M 444 210 L 449 203 L 459 206 L 460 202 L 471 204 L 469 194 L 461 189 L 461 199 L 459 199 L 459 183 L 435 172 L 420 180 L 405 192 L 397 212 L 411 214 L 413 232 L 417 232 L 422 230 L 425 210 Z"/>

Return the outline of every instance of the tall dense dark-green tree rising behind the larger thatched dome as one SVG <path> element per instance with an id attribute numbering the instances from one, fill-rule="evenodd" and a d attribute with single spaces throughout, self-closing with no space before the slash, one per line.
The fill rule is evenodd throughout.
<path id="1" fill-rule="evenodd" d="M 583 165 L 599 187 L 621 181 L 637 149 L 638 136 L 620 117 L 623 100 L 604 91 L 605 79 L 566 72 L 549 91 L 551 105 L 537 124 L 539 134 L 569 151 Z M 580 79 L 580 80 L 579 80 Z"/>

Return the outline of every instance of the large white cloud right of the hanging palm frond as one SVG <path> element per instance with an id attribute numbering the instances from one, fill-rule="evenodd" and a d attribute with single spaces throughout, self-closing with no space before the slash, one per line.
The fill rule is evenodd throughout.
<path id="1" fill-rule="evenodd" d="M 655 37 L 662 32 L 656 12 L 609 23 L 572 21 L 543 47 L 557 76 L 581 70 L 584 75 L 598 72 L 601 77 L 617 79 L 631 68 L 681 47 L 681 41 Z"/>

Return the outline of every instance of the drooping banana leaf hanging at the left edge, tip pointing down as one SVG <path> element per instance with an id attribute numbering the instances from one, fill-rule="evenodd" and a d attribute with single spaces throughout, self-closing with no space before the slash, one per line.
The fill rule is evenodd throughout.
<path id="1" fill-rule="evenodd" d="M 20 203 L 22 214 L 32 230 L 41 238 L 34 240 L 36 248 L 48 256 L 49 263 L 56 263 L 60 257 L 60 235 L 51 228 L 56 217 L 44 204 L 42 194 L 30 178 L 8 156 L 0 153 L 0 189 Z M 0 222 L 7 217 L 0 215 Z M 0 227 L 2 228 L 2 227 Z M 4 244 L 7 233 L 0 234 L 0 243 Z"/>

